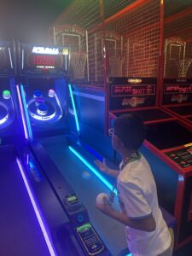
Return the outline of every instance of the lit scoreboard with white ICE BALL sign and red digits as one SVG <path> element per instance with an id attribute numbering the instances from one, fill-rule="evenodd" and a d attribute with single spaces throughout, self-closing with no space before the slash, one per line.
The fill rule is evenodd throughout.
<path id="1" fill-rule="evenodd" d="M 21 75 L 67 75 L 69 49 L 20 44 Z"/>

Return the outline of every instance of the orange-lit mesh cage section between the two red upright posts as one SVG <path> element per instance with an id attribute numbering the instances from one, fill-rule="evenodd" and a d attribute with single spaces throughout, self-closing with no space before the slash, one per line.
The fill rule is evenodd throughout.
<path id="1" fill-rule="evenodd" d="M 117 18 L 109 18 L 106 23 L 109 76 L 156 77 L 160 1 L 144 1 L 137 8 L 127 8 L 125 14 Z M 118 73 L 113 73 L 113 66 L 118 68 Z"/>

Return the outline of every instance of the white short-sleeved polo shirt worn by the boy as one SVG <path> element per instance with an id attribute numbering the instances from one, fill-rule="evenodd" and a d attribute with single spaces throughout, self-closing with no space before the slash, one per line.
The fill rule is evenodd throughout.
<path id="1" fill-rule="evenodd" d="M 133 256 L 156 256 L 171 245 L 171 236 L 158 205 L 156 184 L 148 161 L 143 155 L 128 163 L 117 179 L 119 205 L 132 219 L 151 214 L 156 223 L 152 232 L 126 226 L 126 236 Z"/>

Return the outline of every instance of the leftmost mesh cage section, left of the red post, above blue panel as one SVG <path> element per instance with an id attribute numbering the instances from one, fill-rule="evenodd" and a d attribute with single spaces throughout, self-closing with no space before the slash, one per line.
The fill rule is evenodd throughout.
<path id="1" fill-rule="evenodd" d="M 96 34 L 89 32 L 101 23 L 100 0 L 74 1 L 55 20 L 54 43 L 69 47 L 70 78 L 79 84 L 103 85 L 103 57 L 101 53 L 96 55 L 96 40 L 102 38 L 102 29 Z"/>

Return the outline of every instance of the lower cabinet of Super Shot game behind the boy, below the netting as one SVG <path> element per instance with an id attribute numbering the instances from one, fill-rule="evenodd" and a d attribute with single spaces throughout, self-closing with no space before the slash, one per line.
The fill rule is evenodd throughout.
<path id="1" fill-rule="evenodd" d="M 177 218 L 177 245 L 182 244 L 191 236 L 189 180 L 192 155 L 187 151 L 192 142 L 191 131 L 166 108 L 152 107 L 155 102 L 155 79 L 111 79 L 110 84 L 109 108 L 113 110 L 109 111 L 109 124 L 113 125 L 113 120 L 122 113 L 136 114 L 143 119 L 147 126 L 144 143 L 146 148 L 142 148 L 143 154 L 152 166 L 160 205 Z M 151 106 L 148 108 L 146 103 Z M 140 108 L 137 108 L 137 105 Z M 154 162 L 153 154 L 167 166 L 162 166 L 158 158 Z M 167 181 L 167 176 L 171 177 L 171 180 Z M 165 197 L 160 191 L 166 192 L 169 196 Z"/>

